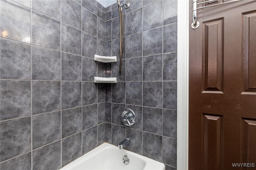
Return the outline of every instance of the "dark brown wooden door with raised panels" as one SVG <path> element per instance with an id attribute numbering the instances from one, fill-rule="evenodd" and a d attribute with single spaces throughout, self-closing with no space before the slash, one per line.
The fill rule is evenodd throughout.
<path id="1" fill-rule="evenodd" d="M 256 1 L 198 10 L 198 21 L 190 27 L 189 169 L 255 170 Z"/>

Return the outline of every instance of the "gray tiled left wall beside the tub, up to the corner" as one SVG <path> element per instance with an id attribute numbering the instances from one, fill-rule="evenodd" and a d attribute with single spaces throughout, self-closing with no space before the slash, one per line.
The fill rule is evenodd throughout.
<path id="1" fill-rule="evenodd" d="M 93 82 L 105 13 L 95 0 L 0 1 L 1 169 L 58 170 L 106 141 Z"/>

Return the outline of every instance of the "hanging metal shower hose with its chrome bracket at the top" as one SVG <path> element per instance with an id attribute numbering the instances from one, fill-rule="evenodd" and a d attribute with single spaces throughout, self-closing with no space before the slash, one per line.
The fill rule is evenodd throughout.
<path id="1" fill-rule="evenodd" d="M 119 66 L 119 74 L 121 74 L 122 69 L 122 50 L 123 50 L 123 40 L 124 40 L 124 29 L 123 29 L 123 6 L 124 8 L 129 8 L 130 3 L 121 3 L 120 0 L 117 0 L 117 5 L 119 8 L 119 16 L 120 16 L 120 66 Z"/>

